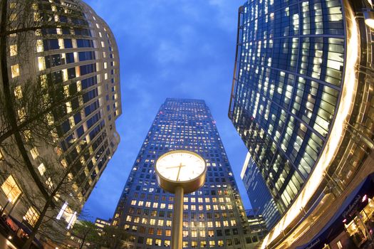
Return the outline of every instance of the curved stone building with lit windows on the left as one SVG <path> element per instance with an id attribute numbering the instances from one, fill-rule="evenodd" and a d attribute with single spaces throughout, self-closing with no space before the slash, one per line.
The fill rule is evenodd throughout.
<path id="1" fill-rule="evenodd" d="M 71 228 L 120 142 L 118 48 L 83 1 L 4 2 L 10 33 L 1 36 L 0 122 L 20 139 L 1 131 L 0 206 L 31 228 L 54 196 L 47 215 Z"/>

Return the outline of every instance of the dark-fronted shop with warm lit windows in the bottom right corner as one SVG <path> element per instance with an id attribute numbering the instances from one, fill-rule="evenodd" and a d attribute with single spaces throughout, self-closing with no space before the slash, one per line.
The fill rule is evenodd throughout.
<path id="1" fill-rule="evenodd" d="M 370 174 L 310 243 L 298 249 L 369 248 L 374 246 L 374 174 Z"/>

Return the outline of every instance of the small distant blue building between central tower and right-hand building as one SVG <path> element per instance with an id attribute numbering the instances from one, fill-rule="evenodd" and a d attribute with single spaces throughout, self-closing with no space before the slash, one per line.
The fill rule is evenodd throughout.
<path id="1" fill-rule="evenodd" d="M 246 155 L 240 177 L 244 182 L 246 194 L 251 201 L 253 210 L 257 216 L 261 215 L 261 218 L 264 219 L 266 231 L 270 231 L 281 218 L 281 213 L 279 213 L 274 198 L 250 154 Z"/>

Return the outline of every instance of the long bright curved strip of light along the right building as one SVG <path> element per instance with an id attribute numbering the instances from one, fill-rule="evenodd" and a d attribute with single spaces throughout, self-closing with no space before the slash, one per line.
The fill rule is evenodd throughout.
<path id="1" fill-rule="evenodd" d="M 341 140 L 343 139 L 345 133 L 345 124 L 348 119 L 351 110 L 353 108 L 353 100 L 355 96 L 355 88 L 357 85 L 355 65 L 358 60 L 358 28 L 355 23 L 355 18 L 353 11 L 351 9 L 347 10 L 347 29 L 348 37 L 347 41 L 347 53 L 346 53 L 346 72 L 344 75 L 344 84 L 341 93 L 341 101 L 339 102 L 338 112 L 336 113 L 336 120 L 333 127 L 331 128 L 331 134 L 326 142 L 326 147 L 321 153 L 321 158 L 315 166 L 315 169 L 311 176 L 309 177 L 308 182 L 301 190 L 301 193 L 298 195 L 298 198 L 294 201 L 289 210 L 284 214 L 281 220 L 276 224 L 273 230 L 266 235 L 261 248 L 266 248 L 269 243 L 275 240 L 282 231 L 290 225 L 292 221 L 301 213 L 303 207 L 306 206 L 306 203 L 310 200 L 311 196 L 316 192 L 318 186 L 320 186 L 323 181 L 323 172 L 326 171 L 328 166 L 331 164 L 331 161 L 335 157 L 338 148 L 340 147 Z M 294 240 L 289 241 L 292 243 Z"/>

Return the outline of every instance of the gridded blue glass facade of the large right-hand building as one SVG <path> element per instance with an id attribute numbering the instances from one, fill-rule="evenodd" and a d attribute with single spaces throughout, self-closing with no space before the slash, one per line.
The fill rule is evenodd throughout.
<path id="1" fill-rule="evenodd" d="M 341 1 L 248 1 L 229 117 L 281 213 L 318 161 L 343 84 Z"/>

